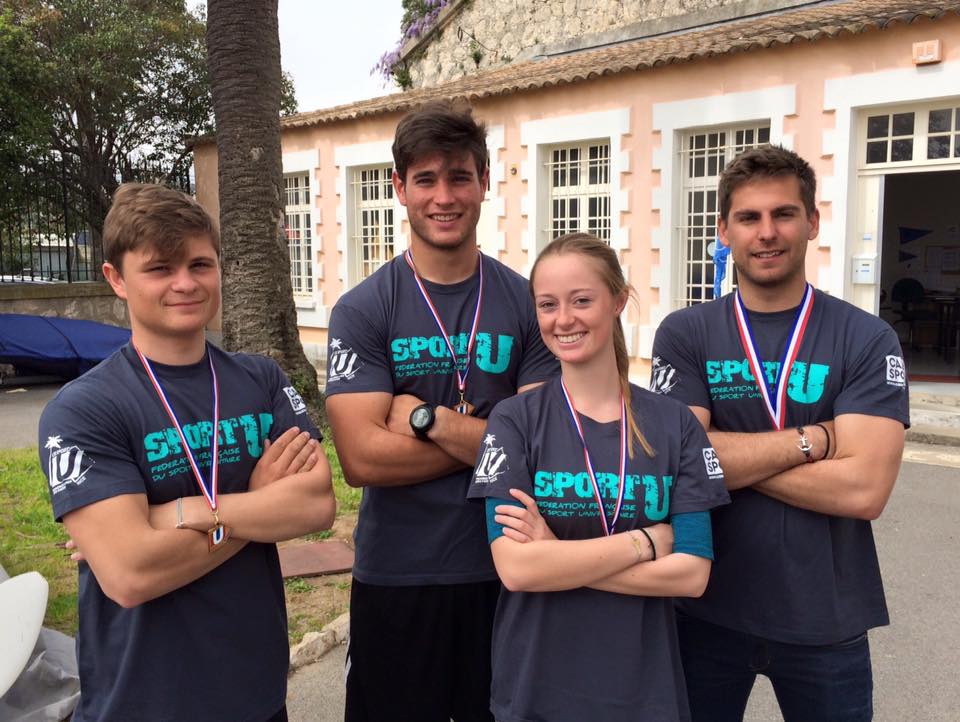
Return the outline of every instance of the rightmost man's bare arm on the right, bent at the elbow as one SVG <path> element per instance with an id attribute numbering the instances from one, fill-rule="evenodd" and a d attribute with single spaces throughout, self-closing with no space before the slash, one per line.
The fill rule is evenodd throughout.
<path id="1" fill-rule="evenodd" d="M 867 520 L 879 517 L 900 473 L 903 424 L 882 416 L 843 414 L 834 420 L 834 429 L 836 454 L 832 458 L 794 467 L 753 488 L 821 514 Z"/>

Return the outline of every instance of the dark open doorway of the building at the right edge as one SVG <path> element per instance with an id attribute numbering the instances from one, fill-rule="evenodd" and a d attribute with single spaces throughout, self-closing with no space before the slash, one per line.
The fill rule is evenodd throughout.
<path id="1" fill-rule="evenodd" d="M 960 382 L 960 171 L 884 178 L 880 316 L 913 381 Z"/>

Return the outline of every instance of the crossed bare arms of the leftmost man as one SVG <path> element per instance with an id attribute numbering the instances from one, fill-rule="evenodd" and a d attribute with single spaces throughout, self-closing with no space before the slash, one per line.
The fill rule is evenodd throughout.
<path id="1" fill-rule="evenodd" d="M 335 513 L 330 466 L 315 440 L 292 428 L 268 444 L 249 490 L 222 494 L 221 522 L 231 538 L 207 551 L 213 517 L 201 496 L 151 506 L 145 494 L 123 494 L 64 515 L 68 546 L 86 560 L 104 593 L 134 607 L 189 584 L 239 552 L 248 541 L 274 542 L 329 528 Z"/>

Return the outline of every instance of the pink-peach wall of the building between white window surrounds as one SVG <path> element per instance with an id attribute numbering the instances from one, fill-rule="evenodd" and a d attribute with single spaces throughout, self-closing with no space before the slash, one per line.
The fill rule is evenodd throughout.
<path id="1" fill-rule="evenodd" d="M 664 140 L 653 125 L 654 106 L 794 86 L 794 112 L 782 119 L 784 137 L 811 162 L 819 178 L 831 178 L 838 164 L 851 163 L 852 159 L 834 157 L 833 152 L 824 147 L 824 131 L 830 131 L 836 124 L 835 113 L 824 110 L 825 82 L 844 76 L 913 68 L 912 44 L 931 39 L 941 40 L 944 64 L 960 62 L 960 18 L 951 14 L 938 20 L 921 18 L 910 25 L 893 23 L 882 31 L 867 30 L 816 42 L 798 41 L 787 46 L 623 72 L 475 101 L 473 106 L 478 117 L 490 126 L 503 128 L 504 147 L 492 158 L 492 163 L 501 163 L 504 168 L 502 180 L 494 189 L 504 203 L 503 217 L 497 219 L 497 229 L 506 241 L 505 250 L 499 253 L 500 260 L 521 271 L 532 262 L 531 253 L 521 247 L 524 232 L 530 230 L 530 219 L 522 213 L 529 181 L 520 169 L 530 160 L 532 152 L 531 148 L 521 145 L 523 124 L 570 114 L 627 109 L 629 132 L 621 138 L 621 143 L 629 161 L 628 170 L 620 176 L 626 210 L 612 222 L 614 228 L 623 227 L 628 233 L 629 245 L 622 259 L 639 301 L 637 306 L 628 307 L 627 321 L 637 326 L 655 322 L 651 309 L 667 299 L 661 299 L 662 291 L 651 285 L 652 269 L 660 264 L 663 254 L 662 250 L 653 248 L 651 241 L 663 223 L 654 203 L 662 181 L 661 171 L 654 169 L 654 158 Z M 398 113 L 385 114 L 284 132 L 285 156 L 306 151 L 317 154 L 312 180 L 319 184 L 319 213 L 315 215 L 318 222 L 313 250 L 316 263 L 323 269 L 318 289 L 321 303 L 327 308 L 333 306 L 344 290 L 343 279 L 337 273 L 341 262 L 337 245 L 341 230 L 337 211 L 341 198 L 336 190 L 339 169 L 335 164 L 335 151 L 340 146 L 392 140 L 400 117 Z M 518 169 L 515 175 L 510 172 L 513 168 Z M 198 198 L 215 211 L 218 208 L 215 146 L 207 144 L 196 149 L 196 169 Z M 850 177 L 856 178 L 855 171 Z M 818 190 L 818 207 L 828 226 L 833 217 L 832 206 L 832 202 L 822 200 Z M 844 231 L 835 229 L 836 232 Z M 400 241 L 403 245 L 403 239 Z M 829 245 L 816 241 L 811 244 L 807 267 L 812 281 L 816 282 L 822 270 L 830 265 L 832 252 L 835 251 Z M 325 336 L 324 328 L 302 328 L 305 342 L 324 343 Z M 637 376 L 643 378 L 648 369 L 649 361 L 638 356 L 634 366 Z"/>

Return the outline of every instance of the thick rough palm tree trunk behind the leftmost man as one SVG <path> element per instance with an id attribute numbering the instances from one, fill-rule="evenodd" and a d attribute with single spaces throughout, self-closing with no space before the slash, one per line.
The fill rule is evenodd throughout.
<path id="1" fill-rule="evenodd" d="M 297 331 L 283 229 L 277 0 L 210 0 L 207 13 L 219 156 L 224 345 L 274 359 L 320 423 L 322 399 Z"/>

